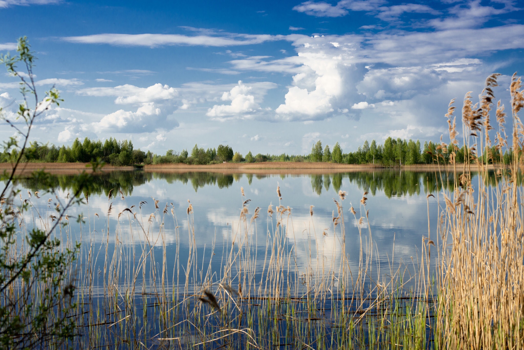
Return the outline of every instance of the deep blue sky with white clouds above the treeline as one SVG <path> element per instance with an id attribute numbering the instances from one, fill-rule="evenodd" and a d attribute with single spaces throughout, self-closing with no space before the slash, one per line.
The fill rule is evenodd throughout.
<path id="1" fill-rule="evenodd" d="M 0 0 L 0 52 L 27 36 L 64 101 L 31 140 L 130 139 L 159 154 L 228 144 L 307 154 L 388 136 L 438 141 L 456 98 L 523 72 L 524 1 Z M 12 118 L 16 77 L 0 73 Z M 457 118 L 459 130 L 460 115 Z M 510 124 L 509 120 L 509 124 Z M 508 125 L 509 127 L 510 125 Z M 0 140 L 14 134 L 0 125 Z M 449 137 L 447 137 L 449 140 Z"/>

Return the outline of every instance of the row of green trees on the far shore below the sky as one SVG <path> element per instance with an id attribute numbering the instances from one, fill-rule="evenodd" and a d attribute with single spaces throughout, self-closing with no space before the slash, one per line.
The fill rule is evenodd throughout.
<path id="1" fill-rule="evenodd" d="M 451 147 L 451 146 L 448 146 Z M 0 154 L 0 162 L 12 162 L 18 156 L 18 150 L 14 149 L 10 153 L 4 151 Z M 451 150 L 441 146 L 440 143 L 432 141 L 424 142 L 421 146 L 420 141 L 392 139 L 388 137 L 384 144 L 377 144 L 375 140 L 369 143 L 367 140 L 355 152 L 344 153 L 337 142 L 333 149 L 328 145 L 322 146 L 318 141 L 313 144 L 311 153 L 308 155 L 280 155 L 261 154 L 253 155 L 249 151 L 245 156 L 239 152 L 233 152 L 229 145 L 219 145 L 216 149 L 208 148 L 204 150 L 198 145 L 194 145 L 191 153 L 182 150 L 180 153 L 168 150 L 165 155 L 153 154 L 149 151 L 144 152 L 140 149 L 135 150 L 130 140 L 118 141 L 111 137 L 104 142 L 90 140 L 88 137 L 80 142 L 74 140 L 71 146 L 62 145 L 60 148 L 55 145 L 39 144 L 32 142 L 25 154 L 23 162 L 48 162 L 48 163 L 72 163 L 90 162 L 101 158 L 104 162 L 111 165 L 133 165 L 133 164 L 217 164 L 222 162 L 235 163 L 255 163 L 255 162 L 331 162 L 342 164 L 381 164 L 385 166 L 411 165 L 411 164 L 432 164 L 437 160 L 439 163 L 449 163 Z M 455 146 L 456 162 L 464 163 L 469 157 L 473 162 L 476 158 L 471 153 L 467 154 L 467 149 Z M 512 150 L 507 150 L 502 155 L 493 146 L 484 152 L 484 162 L 492 163 L 503 161 L 509 164 Z"/>

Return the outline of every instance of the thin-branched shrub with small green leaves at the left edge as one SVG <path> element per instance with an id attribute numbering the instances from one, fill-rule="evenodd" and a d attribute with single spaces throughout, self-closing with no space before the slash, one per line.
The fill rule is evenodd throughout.
<path id="1" fill-rule="evenodd" d="M 3 154 L 13 167 L 1 176 L 4 188 L 0 194 L 0 348 L 9 349 L 67 347 L 68 340 L 79 333 L 74 317 L 70 316 L 75 307 L 71 267 L 80 245 L 65 245 L 54 237 L 54 231 L 67 225 L 68 220 L 64 219 L 67 209 L 82 203 L 79 195 L 89 186 L 91 175 L 82 172 L 75 177 L 75 192 L 68 195 L 65 203 L 55 196 L 56 202 L 50 205 L 56 213 L 51 214 L 51 225 L 45 229 L 31 222 L 32 196 L 28 194 L 28 198 L 23 199 L 17 187 L 16 171 L 20 162 L 41 156 L 35 143 L 29 142 L 32 125 L 62 101 L 54 87 L 43 99 L 39 98 L 33 73 L 35 60 L 26 37 L 18 39 L 16 56 L 0 56 L 8 74 L 20 79 L 23 97 L 14 120 L 8 119 L 0 108 L 0 119 L 15 130 L 15 135 L 3 143 Z M 18 65 L 26 72 L 21 73 Z M 93 171 L 102 165 L 100 160 L 92 162 Z M 53 188 L 49 174 L 39 171 L 32 177 L 49 184 L 44 187 Z"/>

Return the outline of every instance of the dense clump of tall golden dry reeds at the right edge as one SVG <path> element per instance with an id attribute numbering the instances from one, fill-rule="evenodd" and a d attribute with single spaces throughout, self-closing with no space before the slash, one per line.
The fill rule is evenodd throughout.
<path id="1" fill-rule="evenodd" d="M 498 75 L 486 80 L 479 104 L 466 94 L 462 118 L 464 144 L 475 150 L 492 146 L 490 111 Z M 524 129 L 518 116 L 524 103 L 520 78 L 510 85 L 512 148 L 511 166 L 499 164 L 497 181 L 488 185 L 488 169 L 478 160 L 482 176 L 471 181 L 471 172 L 455 178 L 453 192 L 444 192 L 439 238 L 442 242 L 438 269 L 439 302 L 436 311 L 439 347 L 468 349 L 518 349 L 524 347 L 524 245 L 522 167 Z M 450 104 L 451 106 L 451 104 Z M 452 110 L 450 110 L 452 112 Z M 449 113 L 450 117 L 452 113 Z M 506 114 L 500 101 L 495 107 L 495 146 L 507 147 Z M 450 118 L 451 120 L 451 118 Z M 456 132 L 450 123 L 451 144 Z M 474 137 L 474 136 L 477 137 Z M 473 144 L 473 141 L 478 144 Z M 486 154 L 485 154 L 486 155 Z M 487 154 L 488 158 L 493 157 Z M 461 165 L 462 167 L 462 165 Z M 435 237 L 436 238 L 436 237 Z"/>

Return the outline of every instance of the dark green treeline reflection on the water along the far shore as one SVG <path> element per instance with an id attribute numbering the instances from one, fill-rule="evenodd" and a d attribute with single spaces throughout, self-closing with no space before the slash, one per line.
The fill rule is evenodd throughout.
<path id="1" fill-rule="evenodd" d="M 222 174 L 213 172 L 144 172 L 144 171 L 115 171 L 106 172 L 95 176 L 93 183 L 84 190 L 84 196 L 105 195 L 107 196 L 113 189 L 115 193 L 122 192 L 129 196 L 133 194 L 133 189 L 144 185 L 152 180 L 165 181 L 168 184 L 181 183 L 190 184 L 195 193 L 206 186 L 216 186 L 219 189 L 229 188 L 234 182 L 239 182 L 243 177 L 247 178 L 249 185 L 252 185 L 253 178 L 257 180 L 279 176 L 286 179 L 289 176 L 297 175 L 272 175 L 272 174 Z M 451 172 L 437 174 L 435 172 L 412 172 L 412 171 L 374 171 L 374 172 L 348 172 L 334 174 L 309 174 L 300 175 L 310 177 L 311 189 L 316 195 L 332 190 L 337 193 L 343 185 L 354 184 L 362 191 L 369 192 L 372 196 L 377 192 L 383 192 L 387 198 L 428 194 L 440 191 L 442 188 L 453 190 L 454 175 Z M 19 179 L 19 184 L 32 191 L 50 189 L 61 189 L 63 191 L 74 191 L 77 189 L 71 181 L 73 175 L 52 175 L 51 186 L 43 188 L 38 179 L 25 177 Z M 487 181 L 495 183 L 495 173 L 491 173 Z"/>

